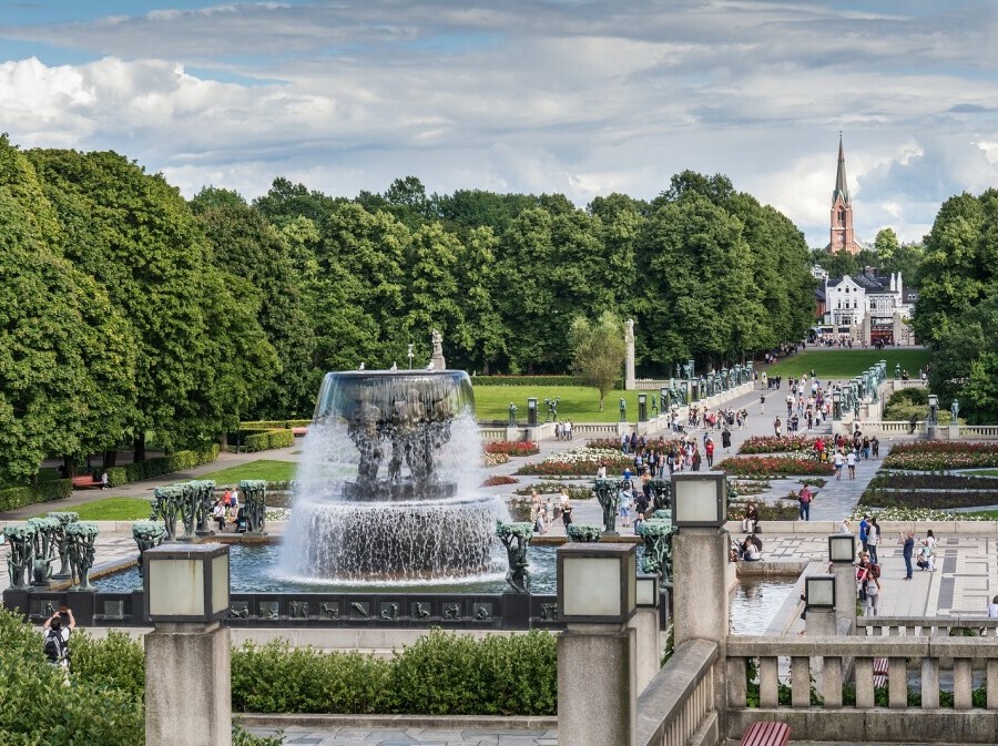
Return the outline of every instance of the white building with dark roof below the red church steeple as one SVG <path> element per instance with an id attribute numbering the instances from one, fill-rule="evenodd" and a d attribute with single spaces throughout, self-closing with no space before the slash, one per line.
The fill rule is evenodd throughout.
<path id="1" fill-rule="evenodd" d="M 816 293 L 823 328 L 854 343 L 914 345 L 909 319 L 918 290 L 905 288 L 902 273 L 878 275 L 868 267 L 856 276 L 826 278 Z"/>

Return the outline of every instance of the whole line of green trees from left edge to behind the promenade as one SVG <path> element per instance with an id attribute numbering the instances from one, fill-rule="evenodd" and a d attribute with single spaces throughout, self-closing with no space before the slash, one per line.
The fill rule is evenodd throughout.
<path id="1" fill-rule="evenodd" d="M 564 372 L 579 318 L 635 320 L 639 375 L 731 364 L 813 323 L 800 231 L 722 176 L 652 201 L 471 190 L 328 196 L 276 178 L 192 200 L 112 152 L 0 137 L 0 481 L 146 437 L 217 442 L 308 417 L 323 374 L 414 365 Z"/>

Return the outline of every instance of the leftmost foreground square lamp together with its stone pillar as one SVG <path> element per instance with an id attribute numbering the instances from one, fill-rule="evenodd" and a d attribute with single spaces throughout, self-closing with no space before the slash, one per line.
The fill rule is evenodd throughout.
<path id="1" fill-rule="evenodd" d="M 143 562 L 145 745 L 232 746 L 228 546 L 166 544 Z"/>

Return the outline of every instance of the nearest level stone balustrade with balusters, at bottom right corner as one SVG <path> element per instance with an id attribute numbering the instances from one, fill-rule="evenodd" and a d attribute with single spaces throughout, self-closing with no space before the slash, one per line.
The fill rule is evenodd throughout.
<path id="1" fill-rule="evenodd" d="M 888 663 L 886 703 L 885 693 L 874 686 L 877 658 Z M 748 699 L 753 660 L 758 661 L 754 682 L 758 689 L 751 704 L 757 706 L 750 706 Z M 780 677 L 781 663 L 788 679 Z M 739 636 L 727 640 L 726 665 L 727 738 L 741 738 L 755 721 L 780 721 L 792 728 L 795 742 L 995 742 L 998 641 L 994 637 Z M 846 698 L 843 674 L 849 668 L 855 688 Z M 975 670 L 984 672 L 989 684 L 982 699 L 975 697 Z M 953 682 L 945 698 L 939 691 L 944 671 Z M 782 687 L 790 687 L 788 697 L 781 694 Z M 950 697 L 951 706 L 943 707 Z"/>

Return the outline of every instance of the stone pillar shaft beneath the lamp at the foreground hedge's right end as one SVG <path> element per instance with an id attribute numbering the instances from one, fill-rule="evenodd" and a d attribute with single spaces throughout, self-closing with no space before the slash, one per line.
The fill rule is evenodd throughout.
<path id="1" fill-rule="evenodd" d="M 558 637 L 558 743 L 637 746 L 638 633 L 569 624 Z"/>

